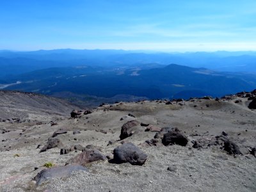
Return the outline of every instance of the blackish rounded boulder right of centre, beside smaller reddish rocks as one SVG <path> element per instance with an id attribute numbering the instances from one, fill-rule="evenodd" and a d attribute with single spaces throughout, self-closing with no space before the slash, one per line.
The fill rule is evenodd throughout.
<path id="1" fill-rule="evenodd" d="M 169 131 L 164 134 L 163 145 L 176 144 L 181 146 L 186 146 L 188 143 L 188 138 L 177 131 Z"/>

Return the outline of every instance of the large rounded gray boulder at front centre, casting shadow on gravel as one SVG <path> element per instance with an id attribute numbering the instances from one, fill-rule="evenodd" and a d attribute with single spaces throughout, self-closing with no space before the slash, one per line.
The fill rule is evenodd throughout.
<path id="1" fill-rule="evenodd" d="M 132 143 L 124 143 L 114 149 L 114 158 L 112 163 L 131 163 L 133 165 L 142 165 L 147 160 L 147 155 Z"/>

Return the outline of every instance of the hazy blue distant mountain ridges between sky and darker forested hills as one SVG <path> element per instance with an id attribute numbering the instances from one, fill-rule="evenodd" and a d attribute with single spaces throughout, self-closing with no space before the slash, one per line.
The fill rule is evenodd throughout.
<path id="1" fill-rule="evenodd" d="M 49 67 L 160 67 L 176 63 L 226 72 L 256 73 L 256 52 L 143 52 L 123 50 L 56 49 L 0 51 L 0 77 Z"/>

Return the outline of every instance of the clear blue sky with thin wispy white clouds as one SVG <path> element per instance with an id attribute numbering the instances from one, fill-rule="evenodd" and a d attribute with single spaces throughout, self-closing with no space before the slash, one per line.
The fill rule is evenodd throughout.
<path id="1" fill-rule="evenodd" d="M 0 49 L 64 48 L 256 51 L 256 1 L 0 1 Z"/>

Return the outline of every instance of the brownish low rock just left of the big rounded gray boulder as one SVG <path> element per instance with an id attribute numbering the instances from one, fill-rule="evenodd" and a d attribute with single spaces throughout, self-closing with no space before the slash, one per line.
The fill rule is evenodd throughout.
<path id="1" fill-rule="evenodd" d="M 85 165 L 93 161 L 105 161 L 106 156 L 102 155 L 97 149 L 88 149 L 78 154 L 76 157 L 72 157 L 66 164 L 80 164 Z"/>

